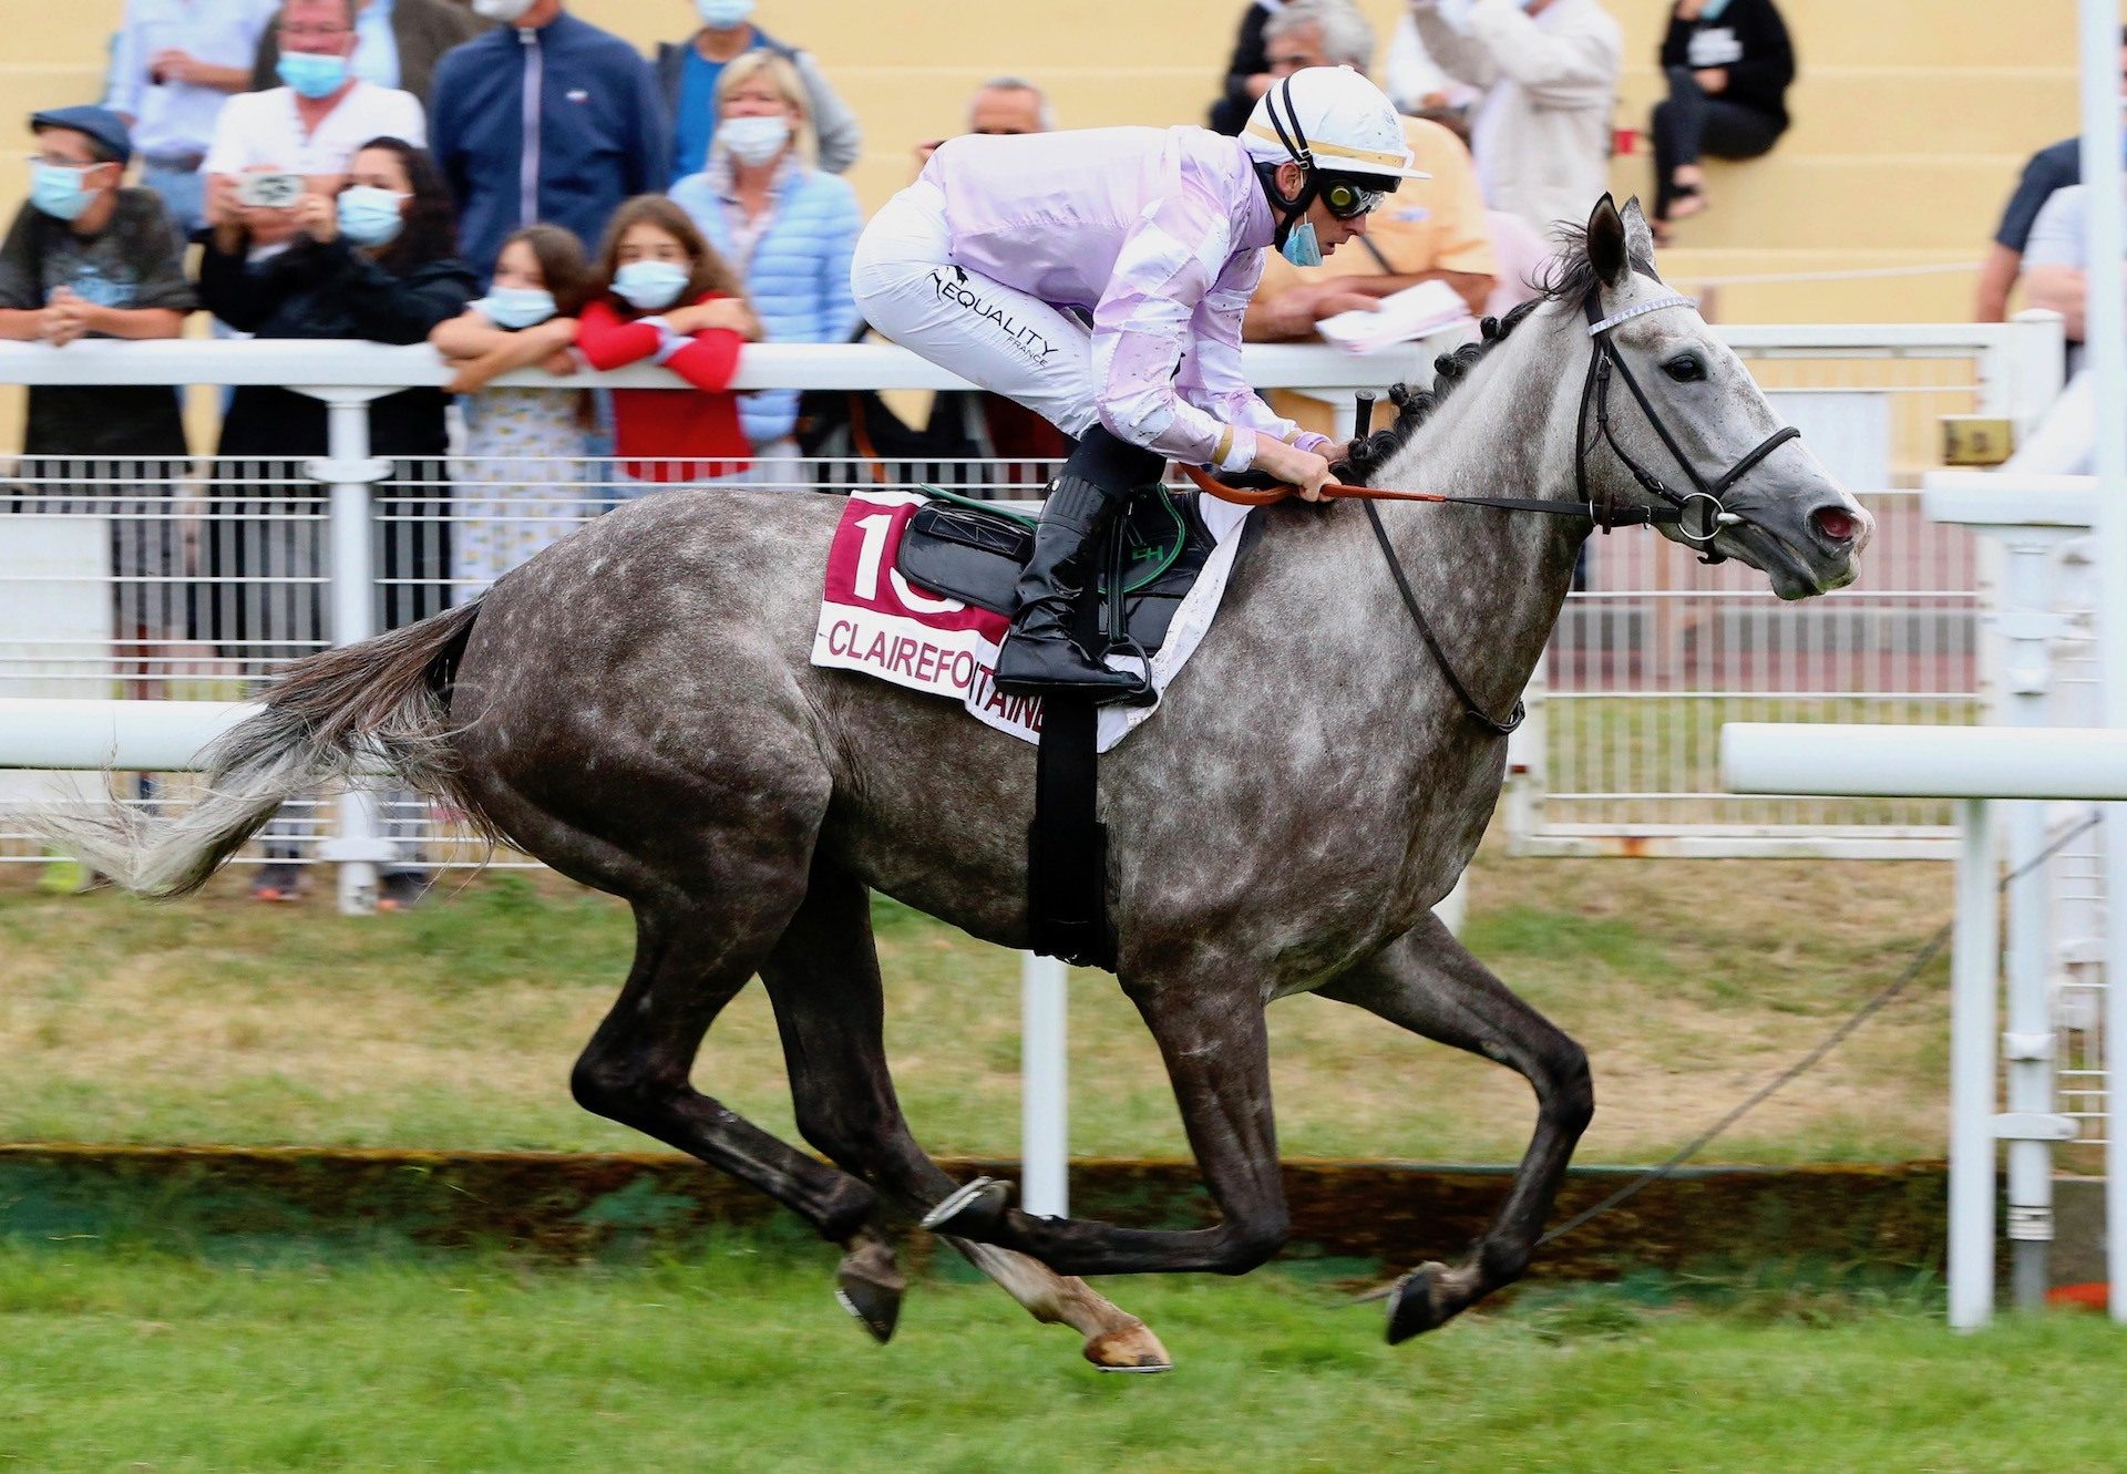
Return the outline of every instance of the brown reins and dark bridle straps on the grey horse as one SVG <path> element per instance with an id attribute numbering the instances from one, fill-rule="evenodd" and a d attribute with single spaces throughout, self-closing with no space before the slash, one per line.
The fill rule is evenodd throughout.
<path id="1" fill-rule="evenodd" d="M 1448 689 L 1455 691 L 1455 700 L 1461 702 L 1463 715 L 1478 723 L 1493 736 L 1510 736 L 1514 727 L 1527 717 L 1527 708 L 1521 700 L 1514 702 L 1514 710 L 1508 713 L 1506 721 L 1500 721 L 1487 713 L 1463 679 L 1455 672 L 1455 664 L 1448 659 L 1446 651 L 1440 649 L 1440 640 L 1434 636 L 1431 623 L 1425 619 L 1425 610 L 1419 606 L 1419 596 L 1410 587 L 1410 576 L 1404 572 L 1404 559 L 1395 555 L 1395 545 L 1389 542 L 1389 530 L 1380 525 L 1380 513 L 1374 510 L 1374 502 L 1427 502 L 1434 506 L 1485 506 L 1502 513 L 1540 513 L 1544 517 L 1574 517 L 1589 521 L 1604 532 L 1612 527 L 1653 527 L 1653 525 L 1674 525 L 1678 536 L 1699 549 L 1702 564 L 1727 562 L 1727 553 L 1712 551 L 1714 538 L 1721 536 L 1725 527 L 1742 521 L 1736 513 L 1727 510 L 1721 502 L 1721 493 L 1734 487 L 1751 468 L 1761 459 L 1772 455 L 1778 447 L 1787 445 L 1802 432 L 1793 425 L 1780 425 L 1770 436 L 1757 442 L 1757 447 L 1729 466 L 1716 481 L 1708 483 L 1685 449 L 1670 434 L 1661 415 L 1655 413 L 1655 402 L 1646 398 L 1640 381 L 1631 376 L 1631 368 L 1625 366 L 1623 355 L 1619 355 L 1617 345 L 1610 340 L 1612 330 L 1646 313 L 1659 313 L 1670 306 L 1697 306 L 1691 298 L 1670 294 L 1663 298 L 1653 298 L 1648 302 L 1636 302 L 1621 313 L 1610 317 L 1602 315 L 1600 294 L 1589 291 L 1582 300 L 1582 313 L 1589 319 L 1589 338 L 1593 338 L 1593 351 L 1589 353 L 1589 372 L 1580 383 L 1580 413 L 1574 417 L 1574 493 L 1572 502 L 1546 502 L 1536 498 L 1519 496 L 1444 496 L 1440 491 L 1402 491 L 1393 487 L 1353 487 L 1340 481 L 1329 481 L 1323 485 L 1321 496 L 1329 502 L 1363 502 L 1366 519 L 1374 527 L 1374 540 L 1380 545 L 1380 555 L 1389 562 L 1389 574 L 1395 579 L 1395 591 L 1404 600 L 1404 608 L 1410 610 L 1410 623 L 1419 627 L 1419 638 L 1425 640 L 1425 649 L 1431 651 L 1434 664 L 1440 666 L 1440 674 L 1446 676 Z M 1625 381 L 1631 398 L 1638 400 L 1640 411 L 1646 415 L 1646 423 L 1653 425 L 1661 445 L 1670 451 L 1678 466 L 1682 466 L 1685 476 L 1691 479 L 1691 491 L 1672 491 L 1659 476 L 1640 466 L 1631 453 L 1619 445 L 1617 432 L 1610 430 L 1610 376 L 1612 372 Z M 1359 425 L 1357 434 L 1368 434 L 1368 419 L 1372 417 L 1374 396 L 1359 396 Z M 1593 411 L 1595 434 L 1589 436 L 1589 413 Z M 1608 445 L 1610 451 L 1625 464 L 1631 479 L 1640 483 L 1642 489 L 1653 493 L 1659 506 L 1619 506 L 1614 498 L 1604 496 L 1602 502 L 1589 491 L 1589 451 L 1595 445 Z M 1263 491 L 1251 491 L 1242 487 L 1229 487 L 1210 472 L 1198 466 L 1183 466 L 1183 474 L 1189 476 L 1206 496 L 1215 496 L 1221 502 L 1236 502 L 1240 506 L 1270 506 L 1297 496 L 1300 487 L 1272 487 Z M 1708 506 L 1706 515 L 1699 519 L 1699 530 L 1693 532 L 1685 513 L 1693 504 L 1704 502 Z"/>

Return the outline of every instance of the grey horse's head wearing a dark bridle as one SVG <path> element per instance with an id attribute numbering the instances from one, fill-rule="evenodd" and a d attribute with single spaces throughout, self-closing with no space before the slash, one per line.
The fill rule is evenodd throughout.
<path id="1" fill-rule="evenodd" d="M 1595 355 L 1578 453 L 1587 491 L 1617 506 L 1680 506 L 1663 534 L 1761 570 L 1785 600 L 1844 587 L 1876 527 L 1793 438 L 1697 306 L 1655 277 L 1655 240 L 1631 200 L 1589 215 L 1587 272 L 1565 306 Z"/>

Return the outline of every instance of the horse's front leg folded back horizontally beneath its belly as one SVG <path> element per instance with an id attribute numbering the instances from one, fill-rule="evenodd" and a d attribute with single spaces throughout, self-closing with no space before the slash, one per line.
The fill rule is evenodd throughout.
<path id="1" fill-rule="evenodd" d="M 1132 998 L 1159 1042 L 1189 1146 L 1223 1223 L 1174 1232 L 1036 1219 L 1006 1208 L 998 1185 L 978 1183 L 947 1197 L 925 1227 L 1017 1249 L 1057 1274 L 1246 1274 L 1278 1251 L 1289 1219 L 1261 995 L 1189 978 L 1138 987 Z"/>

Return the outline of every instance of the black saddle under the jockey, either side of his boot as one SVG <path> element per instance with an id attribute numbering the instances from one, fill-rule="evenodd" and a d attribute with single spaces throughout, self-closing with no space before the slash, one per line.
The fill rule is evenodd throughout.
<path id="1" fill-rule="evenodd" d="M 908 583 L 1010 617 L 1019 570 L 1034 553 L 1034 519 L 925 487 L 934 500 L 902 534 L 895 568 Z M 1078 640 L 1098 651 L 1102 627 L 1129 653 L 1153 653 L 1174 610 L 1204 572 L 1217 540 L 1198 515 L 1195 491 L 1144 489 L 1117 517 L 1100 549 L 1100 576 L 1078 604 Z M 1121 570 L 1121 630 L 1112 593 Z M 1106 610 L 1106 619 L 1104 619 Z M 1117 638 L 1121 636 L 1121 638 Z M 1132 649 L 1136 647 L 1136 649 Z"/>

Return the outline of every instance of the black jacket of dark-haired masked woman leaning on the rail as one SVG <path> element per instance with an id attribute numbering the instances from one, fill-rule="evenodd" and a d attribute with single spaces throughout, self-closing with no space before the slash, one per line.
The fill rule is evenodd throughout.
<path id="1" fill-rule="evenodd" d="M 368 338 L 425 342 L 466 311 L 481 283 L 453 257 L 383 264 L 336 238 L 302 240 L 264 262 L 200 253 L 200 306 L 257 338 Z M 402 389 L 370 404 L 372 455 L 442 455 L 442 389 Z M 291 389 L 242 385 L 221 421 L 221 455 L 325 453 L 325 404 Z"/>

